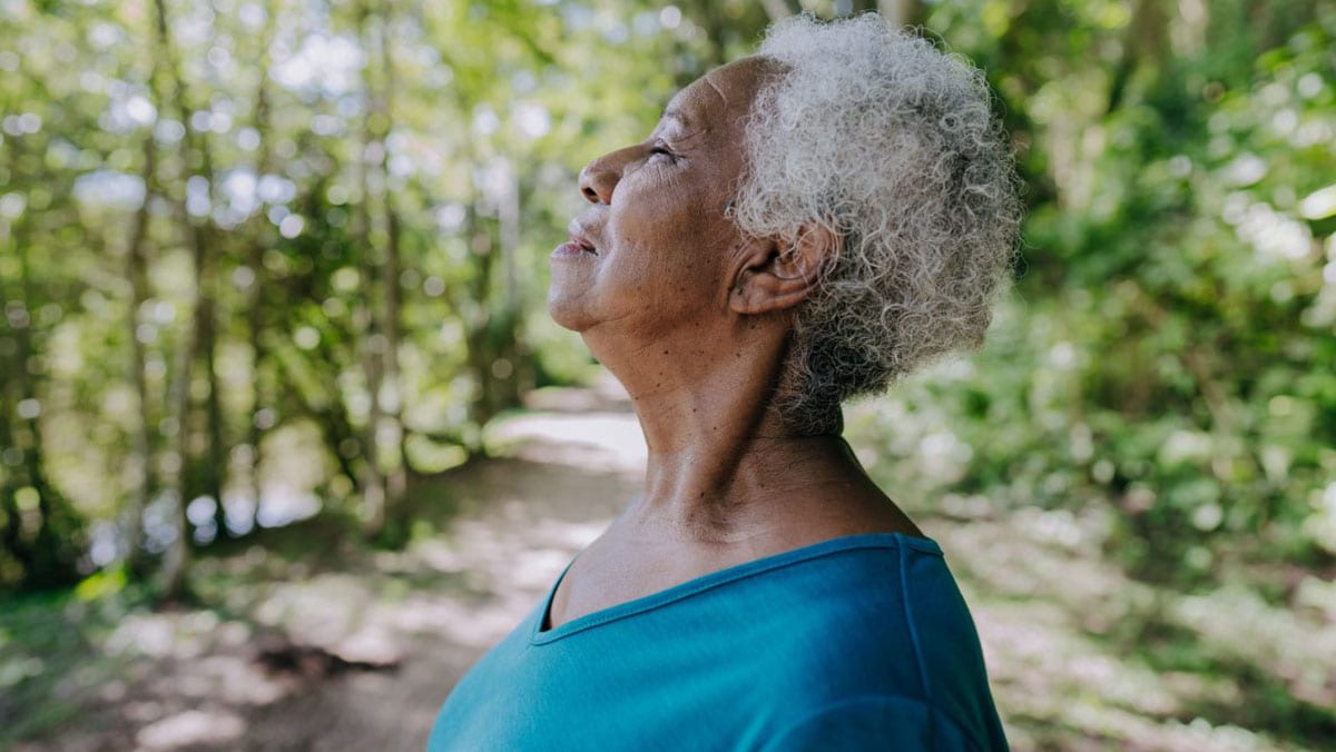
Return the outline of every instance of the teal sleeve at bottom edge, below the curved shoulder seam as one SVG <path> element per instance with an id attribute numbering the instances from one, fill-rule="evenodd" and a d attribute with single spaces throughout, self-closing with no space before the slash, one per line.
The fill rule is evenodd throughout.
<path id="1" fill-rule="evenodd" d="M 949 717 L 910 697 L 858 697 L 800 720 L 764 752 L 978 749 Z"/>

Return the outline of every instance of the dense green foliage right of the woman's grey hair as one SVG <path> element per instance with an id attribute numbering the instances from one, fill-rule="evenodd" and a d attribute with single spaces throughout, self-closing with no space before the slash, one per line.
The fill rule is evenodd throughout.
<path id="1" fill-rule="evenodd" d="M 1026 147 L 1022 275 L 981 357 L 892 398 L 918 421 L 855 422 L 921 493 L 1106 510 L 1193 582 L 1336 553 L 1336 7 L 1184 8 L 934 7 Z"/>

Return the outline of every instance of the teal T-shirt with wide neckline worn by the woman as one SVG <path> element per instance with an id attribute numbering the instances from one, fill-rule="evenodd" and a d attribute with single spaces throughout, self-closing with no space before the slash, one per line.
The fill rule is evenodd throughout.
<path id="1" fill-rule="evenodd" d="M 550 600 L 454 688 L 430 752 L 1006 749 L 927 538 L 835 538 L 542 630 Z"/>

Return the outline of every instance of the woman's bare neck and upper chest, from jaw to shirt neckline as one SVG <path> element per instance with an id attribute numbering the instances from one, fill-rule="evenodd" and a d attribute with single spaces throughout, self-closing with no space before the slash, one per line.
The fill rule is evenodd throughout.
<path id="1" fill-rule="evenodd" d="M 780 417 L 787 331 L 656 333 L 639 349 L 625 333 L 584 333 L 631 394 L 649 461 L 644 496 L 562 578 L 552 624 L 842 536 L 921 534 L 838 433 Z"/>

